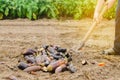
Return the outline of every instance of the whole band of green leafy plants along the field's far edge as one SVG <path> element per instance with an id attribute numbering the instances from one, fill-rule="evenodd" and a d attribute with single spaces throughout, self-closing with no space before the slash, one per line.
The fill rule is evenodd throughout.
<path id="1" fill-rule="evenodd" d="M 73 18 L 92 17 L 96 0 L 0 0 L 0 19 L 3 18 Z M 115 6 L 104 16 L 115 17 Z"/>

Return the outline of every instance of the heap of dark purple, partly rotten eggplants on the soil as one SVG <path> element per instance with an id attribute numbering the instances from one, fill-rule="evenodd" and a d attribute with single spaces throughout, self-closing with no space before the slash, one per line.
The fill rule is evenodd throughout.
<path id="1" fill-rule="evenodd" d="M 22 55 L 24 59 L 19 62 L 18 68 L 28 73 L 36 71 L 60 73 L 66 70 L 76 72 L 72 64 L 72 54 L 60 46 L 43 45 L 27 49 Z"/>

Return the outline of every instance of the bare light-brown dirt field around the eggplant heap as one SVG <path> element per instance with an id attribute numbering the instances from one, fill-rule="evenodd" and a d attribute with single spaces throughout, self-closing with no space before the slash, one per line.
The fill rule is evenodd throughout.
<path id="1" fill-rule="evenodd" d="M 51 74 L 39 71 L 38 75 L 31 75 L 16 67 L 20 58 L 18 55 L 25 49 L 41 44 L 55 44 L 67 49 L 77 46 L 91 24 L 91 19 L 1 20 L 0 80 L 7 80 L 9 75 L 14 75 L 19 80 L 120 80 L 120 56 L 100 54 L 113 45 L 114 20 L 103 20 L 89 37 L 82 53 L 73 53 L 72 62 L 77 68 L 76 73 L 65 71 Z M 88 64 L 82 65 L 82 60 L 87 60 Z M 101 62 L 105 66 L 98 66 Z"/>

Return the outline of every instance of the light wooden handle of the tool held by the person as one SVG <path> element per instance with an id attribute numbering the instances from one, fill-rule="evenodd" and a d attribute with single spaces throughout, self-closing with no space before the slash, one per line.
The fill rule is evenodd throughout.
<path id="1" fill-rule="evenodd" d="M 99 15 L 99 19 L 100 19 L 100 18 L 103 16 L 103 14 L 106 12 L 107 8 L 108 8 L 107 5 L 105 5 L 105 7 L 103 8 L 102 12 L 101 12 L 100 15 Z M 83 40 L 82 40 L 82 42 L 81 42 L 78 50 L 81 50 L 82 47 L 84 47 L 86 40 L 88 39 L 88 37 L 90 36 L 90 34 L 92 33 L 92 31 L 94 30 L 95 26 L 97 26 L 97 22 L 96 22 L 96 21 L 93 22 L 93 24 L 92 24 L 92 26 L 90 27 L 89 31 L 86 33 L 86 35 L 85 35 L 85 37 L 83 38 Z"/>

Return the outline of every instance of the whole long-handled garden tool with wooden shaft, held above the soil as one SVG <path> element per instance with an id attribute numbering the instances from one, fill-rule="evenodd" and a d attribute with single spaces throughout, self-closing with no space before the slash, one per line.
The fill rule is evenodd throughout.
<path id="1" fill-rule="evenodd" d="M 105 11 L 107 10 L 108 6 L 105 5 L 103 10 L 101 11 L 100 15 L 99 15 L 99 19 L 102 18 L 103 14 L 105 13 Z M 92 33 L 92 31 L 94 30 L 94 28 L 97 26 L 98 22 L 94 21 L 90 27 L 90 29 L 88 30 L 88 32 L 86 33 L 86 35 L 84 36 L 83 40 L 80 42 L 80 45 L 73 47 L 72 51 L 74 52 L 79 52 L 79 50 L 81 50 L 84 45 L 85 42 L 87 41 L 87 39 L 89 38 L 90 34 Z"/>

